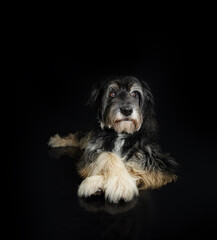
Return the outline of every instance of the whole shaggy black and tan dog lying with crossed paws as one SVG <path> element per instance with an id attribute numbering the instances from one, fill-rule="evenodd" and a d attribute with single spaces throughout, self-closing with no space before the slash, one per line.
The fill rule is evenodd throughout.
<path id="1" fill-rule="evenodd" d="M 176 180 L 176 162 L 156 144 L 153 96 L 147 83 L 135 77 L 103 81 L 92 90 L 89 104 L 97 111 L 91 131 L 57 134 L 48 143 L 83 150 L 78 163 L 84 177 L 80 197 L 103 191 L 110 202 L 130 201 L 138 189 Z"/>

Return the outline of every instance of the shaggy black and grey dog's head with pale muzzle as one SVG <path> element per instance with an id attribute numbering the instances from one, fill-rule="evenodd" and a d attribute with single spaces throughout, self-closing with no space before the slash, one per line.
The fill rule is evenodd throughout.
<path id="1" fill-rule="evenodd" d="M 131 76 L 117 77 L 96 85 L 89 104 L 97 110 L 102 129 L 133 134 L 150 114 L 153 96 L 146 82 Z"/>

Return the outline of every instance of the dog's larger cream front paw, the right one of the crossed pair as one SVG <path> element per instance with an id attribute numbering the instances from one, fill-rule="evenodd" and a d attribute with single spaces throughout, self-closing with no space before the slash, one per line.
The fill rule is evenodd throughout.
<path id="1" fill-rule="evenodd" d="M 138 195 L 136 182 L 131 176 L 110 178 L 104 187 L 105 198 L 113 203 L 118 203 L 121 199 L 128 202 Z"/>

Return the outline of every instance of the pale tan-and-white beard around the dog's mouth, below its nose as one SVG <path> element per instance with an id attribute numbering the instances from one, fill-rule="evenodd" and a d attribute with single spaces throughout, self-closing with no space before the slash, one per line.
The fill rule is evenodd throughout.
<path id="1" fill-rule="evenodd" d="M 139 110 L 134 110 L 129 117 L 123 116 L 119 111 L 110 111 L 107 114 L 105 126 L 114 129 L 117 133 L 133 134 L 142 125 L 142 114 Z"/>

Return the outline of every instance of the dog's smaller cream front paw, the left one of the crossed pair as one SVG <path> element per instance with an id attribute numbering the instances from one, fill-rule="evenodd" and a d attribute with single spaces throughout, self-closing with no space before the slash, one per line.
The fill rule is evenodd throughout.
<path id="1" fill-rule="evenodd" d="M 79 197 L 90 197 L 91 195 L 102 191 L 103 176 L 87 177 L 80 184 L 78 189 Z"/>

